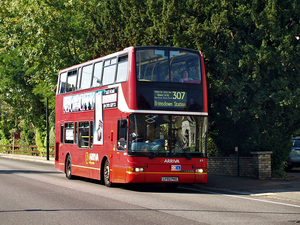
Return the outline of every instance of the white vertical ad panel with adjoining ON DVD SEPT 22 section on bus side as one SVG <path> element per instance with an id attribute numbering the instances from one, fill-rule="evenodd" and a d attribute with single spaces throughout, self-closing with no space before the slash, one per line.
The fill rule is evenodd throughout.
<path id="1" fill-rule="evenodd" d="M 95 93 L 94 145 L 103 145 L 103 110 L 117 107 L 118 87 Z"/>

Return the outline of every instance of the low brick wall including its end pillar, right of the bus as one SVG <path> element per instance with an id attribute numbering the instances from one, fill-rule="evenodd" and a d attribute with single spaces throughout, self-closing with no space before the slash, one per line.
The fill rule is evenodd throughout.
<path id="1" fill-rule="evenodd" d="M 251 157 L 239 157 L 239 176 L 259 180 L 271 179 L 272 152 L 251 152 Z M 208 157 L 207 172 L 217 175 L 238 176 L 236 157 Z"/>

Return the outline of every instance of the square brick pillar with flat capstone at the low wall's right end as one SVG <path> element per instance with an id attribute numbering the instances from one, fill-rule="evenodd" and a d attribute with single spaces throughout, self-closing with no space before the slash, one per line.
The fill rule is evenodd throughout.
<path id="1" fill-rule="evenodd" d="M 253 177 L 271 180 L 271 154 L 273 152 L 250 152 L 253 157 Z"/>

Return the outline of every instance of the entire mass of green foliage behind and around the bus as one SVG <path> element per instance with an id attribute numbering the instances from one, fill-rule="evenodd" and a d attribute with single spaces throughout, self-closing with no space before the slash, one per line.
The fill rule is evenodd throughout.
<path id="1" fill-rule="evenodd" d="M 2 0 L 1 142 L 43 145 L 58 70 L 128 46 L 201 50 L 211 155 L 272 151 L 281 170 L 300 127 L 300 0 Z M 53 132 L 52 132 L 53 137 Z M 52 138 L 53 140 L 53 138 Z M 53 146 L 52 142 L 52 146 Z"/>

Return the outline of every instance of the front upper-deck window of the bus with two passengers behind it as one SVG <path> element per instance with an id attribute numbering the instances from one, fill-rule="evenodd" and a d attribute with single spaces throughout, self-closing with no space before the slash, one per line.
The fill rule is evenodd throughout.
<path id="1" fill-rule="evenodd" d="M 140 81 L 200 83 L 200 57 L 186 51 L 145 49 L 136 52 Z"/>

